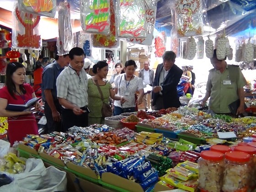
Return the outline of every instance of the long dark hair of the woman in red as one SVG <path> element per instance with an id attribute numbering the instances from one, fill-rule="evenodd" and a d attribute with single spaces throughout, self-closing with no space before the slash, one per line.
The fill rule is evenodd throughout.
<path id="1" fill-rule="evenodd" d="M 15 97 L 15 92 L 16 92 L 16 86 L 12 80 L 12 75 L 13 73 L 19 69 L 19 68 L 24 68 L 24 65 L 19 63 L 19 62 L 12 62 L 12 63 L 9 63 L 6 67 L 6 83 L 5 83 L 5 86 L 7 86 L 7 90 L 9 91 L 10 95 L 16 99 Z M 26 90 L 24 88 L 23 85 L 20 85 L 20 90 L 23 94 L 26 94 Z"/>

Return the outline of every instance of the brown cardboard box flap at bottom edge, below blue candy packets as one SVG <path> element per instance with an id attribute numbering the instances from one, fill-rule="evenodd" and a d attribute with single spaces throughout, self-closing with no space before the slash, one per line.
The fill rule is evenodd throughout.
<path id="1" fill-rule="evenodd" d="M 139 183 L 135 183 L 134 181 L 125 179 L 121 176 L 117 176 L 113 173 L 102 173 L 101 180 L 105 183 L 120 187 L 130 192 L 144 192 L 143 188 L 139 185 Z"/>

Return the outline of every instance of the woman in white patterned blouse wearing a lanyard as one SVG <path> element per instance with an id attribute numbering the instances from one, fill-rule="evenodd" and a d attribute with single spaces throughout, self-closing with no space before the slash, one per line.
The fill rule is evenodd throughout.
<path id="1" fill-rule="evenodd" d="M 115 92 L 119 96 L 124 96 L 126 102 L 114 101 L 114 115 L 120 115 L 123 112 L 134 112 L 136 103 L 142 103 L 144 96 L 143 80 L 134 75 L 137 65 L 135 61 L 128 60 L 124 65 L 125 73 L 121 74 L 115 80 Z M 135 101 L 135 93 L 139 91 L 138 100 Z"/>

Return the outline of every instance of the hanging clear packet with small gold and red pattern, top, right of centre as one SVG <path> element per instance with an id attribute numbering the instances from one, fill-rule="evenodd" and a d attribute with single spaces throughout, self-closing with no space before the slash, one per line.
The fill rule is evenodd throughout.
<path id="1" fill-rule="evenodd" d="M 179 37 L 203 34 L 202 0 L 176 0 L 176 12 Z"/>

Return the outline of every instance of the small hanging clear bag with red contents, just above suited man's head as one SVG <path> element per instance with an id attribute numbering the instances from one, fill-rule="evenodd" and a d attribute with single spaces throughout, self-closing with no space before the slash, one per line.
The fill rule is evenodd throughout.
<path id="1" fill-rule="evenodd" d="M 155 57 L 162 57 L 166 50 L 166 35 L 165 32 L 160 32 L 155 37 Z"/>

